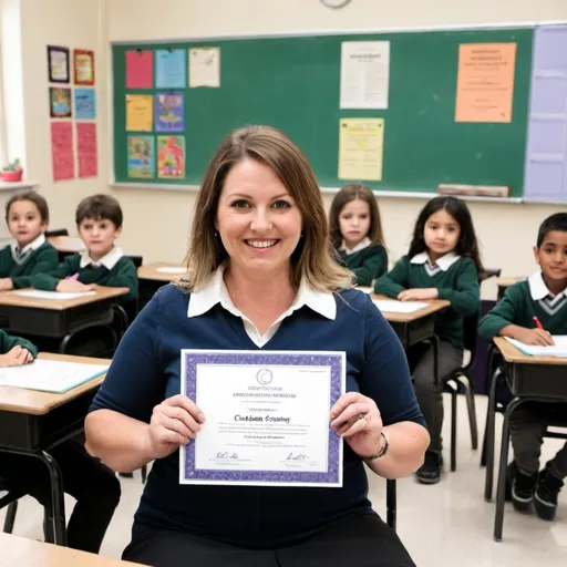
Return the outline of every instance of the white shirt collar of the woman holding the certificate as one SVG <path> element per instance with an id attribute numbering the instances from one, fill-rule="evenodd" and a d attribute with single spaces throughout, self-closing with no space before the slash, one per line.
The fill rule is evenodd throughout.
<path id="1" fill-rule="evenodd" d="M 264 334 L 260 334 L 256 326 L 233 303 L 223 279 L 224 271 L 225 266 L 220 266 L 205 288 L 192 291 L 187 317 L 199 317 L 213 309 L 217 303 L 220 303 L 229 313 L 240 317 L 246 333 L 260 348 L 276 334 L 281 321 L 286 317 L 289 317 L 293 311 L 301 309 L 303 306 L 309 307 L 327 319 L 334 320 L 337 317 L 337 303 L 334 302 L 333 295 L 330 291 L 315 290 L 302 282 L 291 307 L 281 313 Z"/>

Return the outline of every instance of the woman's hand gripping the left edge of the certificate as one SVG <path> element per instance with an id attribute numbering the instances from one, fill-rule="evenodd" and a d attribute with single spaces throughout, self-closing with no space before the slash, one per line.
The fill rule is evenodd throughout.
<path id="1" fill-rule="evenodd" d="M 177 394 L 154 408 L 148 427 L 153 458 L 171 455 L 179 445 L 195 439 L 205 423 L 205 415 L 196 403 Z"/>

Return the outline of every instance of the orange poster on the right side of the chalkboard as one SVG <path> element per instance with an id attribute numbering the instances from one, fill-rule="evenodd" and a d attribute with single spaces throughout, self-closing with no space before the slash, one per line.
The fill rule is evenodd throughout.
<path id="1" fill-rule="evenodd" d="M 455 122 L 512 122 L 516 43 L 458 48 Z"/>

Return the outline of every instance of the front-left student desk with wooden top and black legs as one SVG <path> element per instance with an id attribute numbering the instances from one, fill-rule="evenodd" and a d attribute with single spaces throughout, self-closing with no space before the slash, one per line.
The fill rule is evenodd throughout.
<path id="1" fill-rule="evenodd" d="M 40 359 L 110 364 L 109 360 L 41 353 Z M 0 386 L 0 451 L 33 456 L 42 461 L 51 476 L 53 534 L 55 543 L 66 545 L 63 480 L 50 449 L 84 427 L 84 417 L 104 377 L 97 377 L 64 394 L 23 388 Z M 3 556 L 2 557 L 2 565 Z"/>

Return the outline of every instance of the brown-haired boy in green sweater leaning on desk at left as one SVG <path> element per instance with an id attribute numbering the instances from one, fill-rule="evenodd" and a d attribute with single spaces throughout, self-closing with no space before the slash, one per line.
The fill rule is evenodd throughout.
<path id="1" fill-rule="evenodd" d="M 48 291 L 90 291 L 96 286 L 124 287 L 123 303 L 137 297 L 137 274 L 134 262 L 114 246 L 122 233 L 122 209 L 110 195 L 93 195 L 76 207 L 79 235 L 86 246 L 82 254 L 66 257 L 54 270 L 31 278 L 37 289 Z"/>

